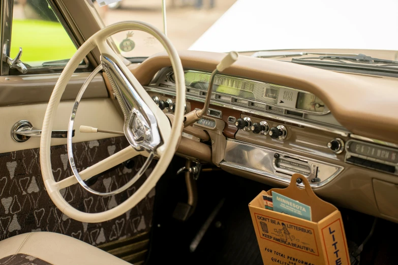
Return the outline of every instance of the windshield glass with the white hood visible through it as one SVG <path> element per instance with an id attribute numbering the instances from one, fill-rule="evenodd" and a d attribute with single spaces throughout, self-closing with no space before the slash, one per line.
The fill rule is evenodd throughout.
<path id="1" fill-rule="evenodd" d="M 163 29 L 161 0 L 123 0 L 96 7 L 105 25 L 140 20 Z M 257 51 L 308 53 L 275 56 L 289 61 L 310 57 L 334 63 L 369 63 L 317 58 L 335 54 L 395 61 L 396 10 L 396 0 L 170 0 L 166 1 L 167 36 L 177 50 L 235 50 L 255 56 Z M 113 39 L 125 57 L 147 57 L 163 51 L 157 40 L 140 31 L 120 32 Z M 258 57 L 273 58 L 269 54 Z"/>

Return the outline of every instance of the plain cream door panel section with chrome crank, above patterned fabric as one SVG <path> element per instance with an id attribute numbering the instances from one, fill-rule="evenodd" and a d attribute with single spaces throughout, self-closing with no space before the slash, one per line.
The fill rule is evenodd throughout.
<path id="1" fill-rule="evenodd" d="M 73 101 L 59 103 L 54 122 L 54 129 L 67 130 L 71 116 Z M 10 106 L 0 108 L 2 126 L 0 126 L 0 153 L 38 148 L 40 137 L 32 137 L 26 142 L 18 143 L 11 138 L 12 126 L 20 120 L 28 120 L 36 128 L 41 128 L 47 104 L 34 104 L 27 106 Z M 75 137 L 73 143 L 99 140 L 114 137 L 111 134 L 79 132 L 80 125 L 93 126 L 105 130 L 123 131 L 124 119 L 117 112 L 110 98 L 102 100 L 84 100 L 80 102 L 75 119 Z M 66 139 L 51 140 L 51 145 L 65 145 Z"/>

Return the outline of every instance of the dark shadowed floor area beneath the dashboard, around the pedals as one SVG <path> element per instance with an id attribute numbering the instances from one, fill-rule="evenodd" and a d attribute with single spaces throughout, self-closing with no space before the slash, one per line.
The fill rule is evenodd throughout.
<path id="1" fill-rule="evenodd" d="M 270 187 L 224 171 L 201 173 L 197 181 L 196 210 L 187 221 L 181 222 L 175 220 L 172 213 L 178 202 L 187 200 L 183 175 L 175 175 L 183 161 L 173 165 L 157 186 L 147 264 L 164 261 L 173 264 L 263 264 L 248 204 L 261 190 Z M 220 211 L 192 252 L 193 239 L 212 211 L 221 204 Z M 368 236 L 374 217 L 340 210 L 348 240 L 351 245 L 359 246 Z M 397 224 L 379 219 L 374 235 L 360 255 L 360 264 L 398 264 L 395 251 L 398 248 L 397 228 Z"/>

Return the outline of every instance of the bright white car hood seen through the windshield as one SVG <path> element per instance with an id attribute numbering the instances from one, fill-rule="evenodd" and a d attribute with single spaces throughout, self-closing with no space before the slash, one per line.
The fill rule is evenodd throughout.
<path id="1" fill-rule="evenodd" d="M 189 49 L 398 50 L 396 10 L 395 0 L 237 0 Z"/>

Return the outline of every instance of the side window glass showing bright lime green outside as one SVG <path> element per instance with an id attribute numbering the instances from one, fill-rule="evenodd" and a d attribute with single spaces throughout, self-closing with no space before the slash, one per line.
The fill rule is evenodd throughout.
<path id="1" fill-rule="evenodd" d="M 60 60 L 65 61 L 59 64 L 66 65 L 77 50 L 47 0 L 14 0 L 11 58 L 19 47 L 21 61 L 30 67 L 50 66 L 51 61 Z"/>

